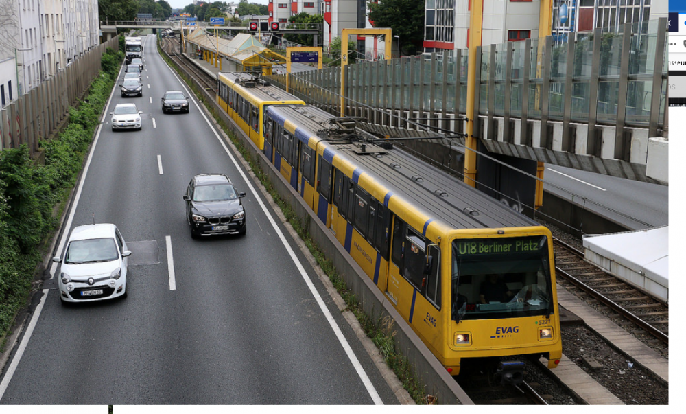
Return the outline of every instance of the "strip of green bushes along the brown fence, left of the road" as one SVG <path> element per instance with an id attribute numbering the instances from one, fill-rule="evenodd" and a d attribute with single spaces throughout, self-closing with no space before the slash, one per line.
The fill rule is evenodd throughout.
<path id="1" fill-rule="evenodd" d="M 108 55 L 121 60 L 116 52 L 104 56 Z M 31 159 L 25 145 L 0 151 L 0 336 L 25 306 L 43 240 L 56 229 L 54 207 L 64 200 L 82 168 L 114 86 L 116 72 L 108 74 L 110 62 L 104 64 L 80 107 L 69 108 L 69 124 L 58 138 L 41 141 L 43 165 Z"/>

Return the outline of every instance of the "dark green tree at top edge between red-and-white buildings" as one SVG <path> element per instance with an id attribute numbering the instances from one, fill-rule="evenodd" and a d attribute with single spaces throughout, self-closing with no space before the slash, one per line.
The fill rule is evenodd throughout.
<path id="1" fill-rule="evenodd" d="M 375 27 L 390 27 L 399 36 L 398 49 L 414 54 L 423 48 L 424 1 L 382 0 L 368 1 L 369 19 Z"/>

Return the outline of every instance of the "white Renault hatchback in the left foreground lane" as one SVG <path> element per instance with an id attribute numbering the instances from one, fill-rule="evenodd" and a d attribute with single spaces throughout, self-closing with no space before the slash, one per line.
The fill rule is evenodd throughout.
<path id="1" fill-rule="evenodd" d="M 117 226 L 75 227 L 69 235 L 58 284 L 64 302 L 86 302 L 126 297 L 128 256 L 126 242 Z"/>

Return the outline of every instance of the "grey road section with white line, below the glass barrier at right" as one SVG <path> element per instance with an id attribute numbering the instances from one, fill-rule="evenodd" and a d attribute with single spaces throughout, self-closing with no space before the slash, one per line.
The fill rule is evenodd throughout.
<path id="1" fill-rule="evenodd" d="M 669 224 L 669 187 L 545 165 L 545 191 L 584 205 L 630 229 Z"/>

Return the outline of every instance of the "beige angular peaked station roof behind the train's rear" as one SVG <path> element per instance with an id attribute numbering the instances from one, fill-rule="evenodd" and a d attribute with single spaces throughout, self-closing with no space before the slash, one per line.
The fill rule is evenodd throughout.
<path id="1" fill-rule="evenodd" d="M 237 34 L 233 39 L 217 39 L 213 30 L 204 30 L 202 27 L 188 35 L 187 40 L 209 51 L 219 49 L 219 54 L 233 60 L 244 67 L 281 65 L 286 58 L 267 49 L 259 39 L 251 34 Z"/>

